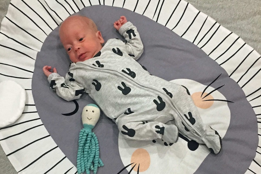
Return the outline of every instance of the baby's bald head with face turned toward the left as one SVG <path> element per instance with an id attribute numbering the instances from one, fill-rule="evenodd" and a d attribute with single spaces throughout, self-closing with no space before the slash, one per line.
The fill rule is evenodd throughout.
<path id="1" fill-rule="evenodd" d="M 94 57 L 104 43 L 95 23 L 79 15 L 70 16 L 62 22 L 59 37 L 70 60 L 74 63 Z"/>

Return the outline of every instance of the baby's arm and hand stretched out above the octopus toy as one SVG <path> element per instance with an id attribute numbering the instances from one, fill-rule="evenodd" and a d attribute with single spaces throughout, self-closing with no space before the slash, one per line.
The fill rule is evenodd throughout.
<path id="1" fill-rule="evenodd" d="M 85 92 L 84 87 L 73 81 L 74 79 L 69 75 L 69 73 L 67 73 L 64 78 L 57 74 L 56 68 L 53 69 L 53 73 L 50 72 L 50 70 L 50 66 L 43 67 L 44 74 L 48 77 L 51 89 L 55 90 L 59 97 L 71 101 L 79 99 Z"/>

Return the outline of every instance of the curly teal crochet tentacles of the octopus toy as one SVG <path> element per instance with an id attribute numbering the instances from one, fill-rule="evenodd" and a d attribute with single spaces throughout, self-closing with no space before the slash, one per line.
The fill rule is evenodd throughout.
<path id="1" fill-rule="evenodd" d="M 89 170 L 97 173 L 98 167 L 104 166 L 100 159 L 99 142 L 95 133 L 91 130 L 92 125 L 84 124 L 84 128 L 79 134 L 79 149 L 77 154 L 77 169 L 78 173 L 86 172 L 90 174 Z"/>

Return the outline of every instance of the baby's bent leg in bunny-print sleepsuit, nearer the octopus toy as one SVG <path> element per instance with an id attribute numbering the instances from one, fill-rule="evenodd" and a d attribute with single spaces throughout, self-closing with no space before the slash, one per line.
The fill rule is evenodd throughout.
<path id="1" fill-rule="evenodd" d="M 155 121 L 135 121 L 136 116 L 119 118 L 118 129 L 125 139 L 154 140 L 159 138 L 167 143 L 175 143 L 177 141 L 177 126 Z"/>

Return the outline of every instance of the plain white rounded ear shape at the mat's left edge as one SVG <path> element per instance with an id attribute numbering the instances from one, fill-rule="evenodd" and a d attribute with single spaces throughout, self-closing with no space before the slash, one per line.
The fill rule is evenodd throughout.
<path id="1" fill-rule="evenodd" d="M 0 128 L 14 123 L 25 108 L 25 89 L 12 80 L 0 83 Z"/>

